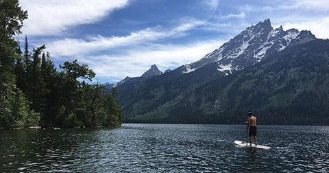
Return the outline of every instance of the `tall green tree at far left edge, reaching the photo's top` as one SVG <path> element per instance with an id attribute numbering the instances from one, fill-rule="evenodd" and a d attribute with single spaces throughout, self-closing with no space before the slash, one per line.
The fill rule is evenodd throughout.
<path id="1" fill-rule="evenodd" d="M 17 0 L 0 1 L 0 126 L 19 127 L 38 124 L 38 113 L 29 111 L 23 92 L 16 87 L 16 73 L 21 73 L 21 50 L 14 35 L 21 34 L 27 11 Z"/>

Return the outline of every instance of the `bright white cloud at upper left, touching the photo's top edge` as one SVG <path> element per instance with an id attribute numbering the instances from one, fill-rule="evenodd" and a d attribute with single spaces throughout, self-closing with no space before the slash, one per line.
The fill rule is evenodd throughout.
<path id="1" fill-rule="evenodd" d="M 28 35 L 61 34 L 73 25 L 99 21 L 127 3 L 128 0 L 23 0 L 20 4 L 29 15 L 23 32 Z"/>

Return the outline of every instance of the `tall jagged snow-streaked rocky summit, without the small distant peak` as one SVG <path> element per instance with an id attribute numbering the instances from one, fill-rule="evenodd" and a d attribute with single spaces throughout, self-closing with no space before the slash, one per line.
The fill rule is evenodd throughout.
<path id="1" fill-rule="evenodd" d="M 218 70 L 226 74 L 254 65 L 265 57 L 278 53 L 286 47 L 315 40 L 309 31 L 295 29 L 284 31 L 282 26 L 273 29 L 271 21 L 266 19 L 257 25 L 247 27 L 243 32 L 224 43 L 219 49 L 207 54 L 201 60 L 181 67 L 183 73 L 189 73 L 211 62 L 217 62 Z"/>

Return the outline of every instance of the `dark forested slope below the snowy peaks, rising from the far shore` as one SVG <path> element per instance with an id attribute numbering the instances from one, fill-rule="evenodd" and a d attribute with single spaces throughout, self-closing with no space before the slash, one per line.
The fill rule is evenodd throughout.
<path id="1" fill-rule="evenodd" d="M 328 40 L 289 47 L 252 67 L 202 85 L 151 80 L 146 93 L 136 92 L 146 87 L 134 89 L 143 106 L 124 108 L 127 113 L 139 113 L 127 117 L 127 122 L 241 124 L 247 111 L 253 111 L 261 124 L 329 124 Z M 170 95 L 176 100 L 168 100 Z"/>

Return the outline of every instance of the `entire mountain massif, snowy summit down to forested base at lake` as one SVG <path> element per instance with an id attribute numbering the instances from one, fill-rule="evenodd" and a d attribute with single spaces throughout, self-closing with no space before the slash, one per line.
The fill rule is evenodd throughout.
<path id="1" fill-rule="evenodd" d="M 328 94 L 319 93 L 314 87 L 319 81 L 311 79 L 326 74 L 317 68 L 321 64 L 315 62 L 320 58 L 326 65 L 328 47 L 321 44 L 328 45 L 327 42 L 315 38 L 309 31 L 273 29 L 267 19 L 247 27 L 197 62 L 138 82 L 142 77 L 119 84 L 117 99 L 123 106 L 124 121 L 236 124 L 245 120 L 241 115 L 253 110 L 266 117 L 267 120 L 263 120 L 266 124 L 297 124 L 294 118 L 300 113 L 296 111 L 299 104 L 304 106 L 300 110 L 310 110 L 301 116 L 312 113 L 324 117 L 326 112 L 319 108 L 329 107 L 326 105 Z M 317 54 L 319 56 L 315 56 Z M 302 56 L 305 58 L 299 59 Z M 293 85 L 294 82 L 297 84 Z M 326 88 L 324 83 L 319 85 Z M 308 88 L 298 89 L 299 86 Z M 313 103 L 298 102 L 301 97 L 307 98 L 307 93 Z M 312 95 L 325 96 L 317 102 Z M 298 123 L 321 124 L 321 121 Z"/>

